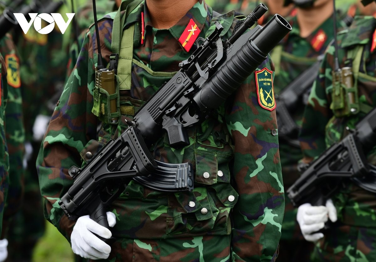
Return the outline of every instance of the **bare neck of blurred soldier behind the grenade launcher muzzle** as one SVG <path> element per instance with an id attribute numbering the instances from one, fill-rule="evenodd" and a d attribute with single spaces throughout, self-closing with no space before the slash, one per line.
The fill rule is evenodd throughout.
<path id="1" fill-rule="evenodd" d="M 311 9 L 297 9 L 297 20 L 300 36 L 306 38 L 311 35 L 325 20 L 333 14 L 333 2 L 326 1 L 320 6 Z"/>

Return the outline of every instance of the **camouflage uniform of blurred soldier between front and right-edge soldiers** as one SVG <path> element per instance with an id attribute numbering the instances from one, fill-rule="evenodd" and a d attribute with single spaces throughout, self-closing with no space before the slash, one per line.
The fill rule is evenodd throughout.
<path id="1" fill-rule="evenodd" d="M 279 72 L 276 72 L 274 78 L 274 88 L 276 94 L 282 92 L 282 90 L 288 86 L 296 77 L 309 68 L 314 62 L 317 61 L 317 57 L 323 54 L 329 42 L 331 42 L 333 35 L 333 19 L 328 18 L 321 26 L 314 30 L 306 38 L 300 36 L 300 29 L 297 17 L 291 18 L 289 21 L 293 30 L 288 36 L 281 42 L 281 50 L 277 54 L 276 49 L 271 53 L 272 57 L 279 56 L 280 60 Z M 341 23 L 337 24 L 337 27 L 341 27 Z M 319 32 L 323 32 L 326 35 L 326 40 L 322 43 L 322 47 L 319 50 L 315 50 L 312 46 L 314 39 Z M 278 107 L 278 105 L 277 105 Z M 294 111 L 293 119 L 296 120 L 297 125 L 300 125 L 300 119 L 304 109 L 303 101 L 298 105 Z M 290 139 L 297 139 L 297 137 L 291 137 Z M 281 153 L 281 166 L 282 176 L 284 179 L 285 188 L 290 187 L 297 178 L 299 178 L 299 172 L 297 171 L 297 162 L 302 159 L 302 152 L 300 148 L 291 146 L 287 139 L 280 137 L 279 148 Z M 294 222 L 296 220 L 296 209 L 293 208 L 290 200 L 286 202 L 285 219 L 282 226 L 282 239 L 291 239 L 300 232 L 299 225 Z M 297 234 L 300 235 L 300 234 Z M 303 239 L 300 235 L 300 239 Z"/>

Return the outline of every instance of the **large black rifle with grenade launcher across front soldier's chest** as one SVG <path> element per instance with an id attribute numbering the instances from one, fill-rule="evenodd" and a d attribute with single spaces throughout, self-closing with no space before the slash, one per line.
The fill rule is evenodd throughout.
<path id="1" fill-rule="evenodd" d="M 89 214 L 108 227 L 106 206 L 118 197 L 124 190 L 123 184 L 131 178 L 156 190 L 192 190 L 191 164 L 155 161 L 148 146 L 164 131 L 171 146 L 188 145 L 186 128 L 205 120 L 266 59 L 291 30 L 284 18 L 275 15 L 265 27 L 256 26 L 246 32 L 266 10 L 260 4 L 226 41 L 220 38 L 223 27 L 216 23 L 214 32 L 197 40 L 196 43 L 202 44 L 140 108 L 118 139 L 110 141 L 83 169 L 71 167 L 69 173 L 74 183 L 59 202 L 71 220 Z M 100 70 L 100 74 L 108 77 L 113 74 L 104 68 Z M 108 90 L 111 94 L 114 87 Z M 113 121 L 116 123 L 116 119 Z"/>

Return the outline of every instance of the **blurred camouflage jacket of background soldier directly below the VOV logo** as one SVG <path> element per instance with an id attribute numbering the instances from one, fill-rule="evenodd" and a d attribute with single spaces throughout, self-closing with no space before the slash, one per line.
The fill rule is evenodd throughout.
<path id="1" fill-rule="evenodd" d="M 63 5 L 58 13 L 70 12 Z M 64 18 L 66 19 L 66 18 Z M 47 22 L 42 20 L 42 28 Z M 69 29 L 64 35 L 68 34 Z M 63 45 L 61 31 L 55 27 L 49 34 L 38 33 L 33 26 L 27 34 L 18 29 L 14 39 L 20 56 L 20 72 L 23 89 L 23 114 L 26 140 L 32 141 L 32 127 L 38 114 L 49 115 L 59 98 L 53 99 L 56 92 L 62 92 L 68 63 L 68 47 Z"/>

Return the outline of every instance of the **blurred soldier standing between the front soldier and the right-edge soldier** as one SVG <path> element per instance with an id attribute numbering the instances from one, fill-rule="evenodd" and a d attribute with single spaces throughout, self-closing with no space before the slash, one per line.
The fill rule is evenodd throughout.
<path id="1" fill-rule="evenodd" d="M 286 4 L 289 3 L 290 1 L 286 1 Z M 302 7 L 299 3 L 295 5 L 296 15 L 288 20 L 293 30 L 271 52 L 276 71 L 274 78 L 276 94 L 282 92 L 288 84 L 317 61 L 317 57 L 324 53 L 334 34 L 332 0 L 311 1 L 311 7 Z M 339 15 L 337 17 L 337 28 L 345 26 L 340 22 Z M 313 20 L 316 20 L 316 24 L 312 24 Z M 300 97 L 296 110 L 291 115 L 297 126 L 300 126 L 305 106 L 303 100 L 304 98 Z M 297 132 L 279 133 L 280 152 L 283 152 L 281 153 L 281 166 L 285 188 L 289 188 L 300 176 L 297 162 L 303 156 L 297 139 Z M 310 250 L 313 249 L 313 244 L 304 241 L 300 233 L 299 224 L 296 222 L 296 212 L 297 209 L 287 198 L 282 236 L 279 242 L 278 259 L 280 261 L 308 260 Z"/>

